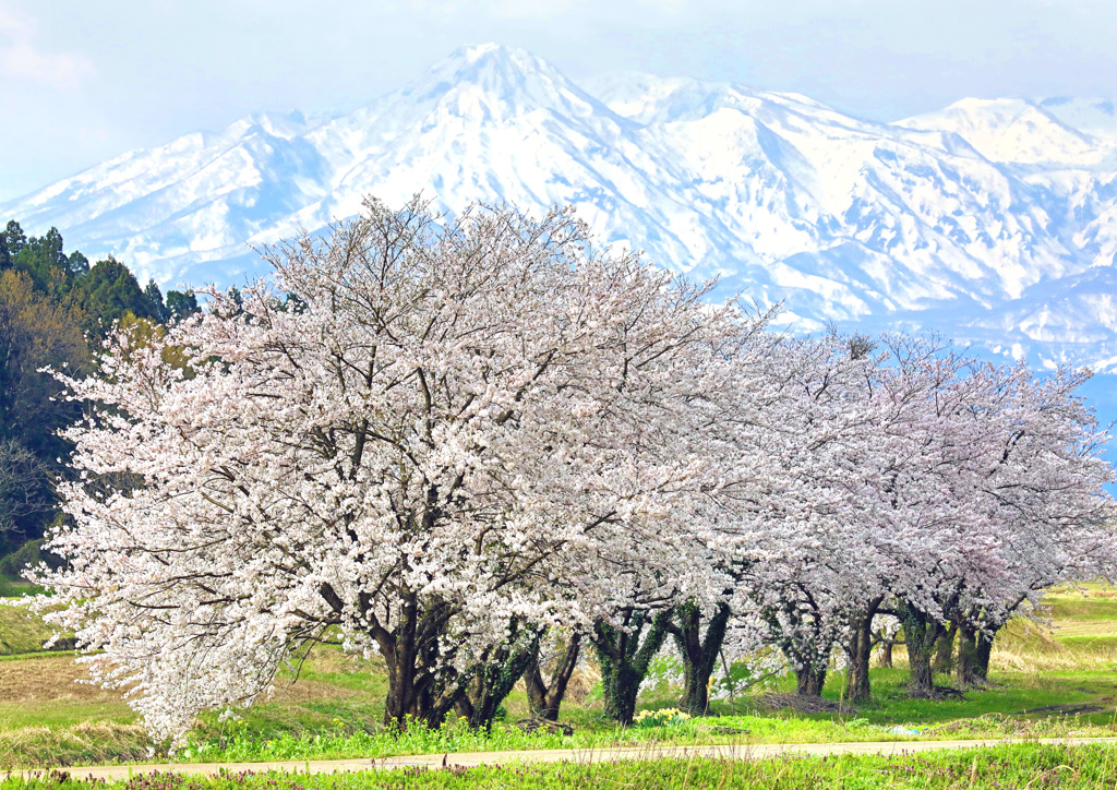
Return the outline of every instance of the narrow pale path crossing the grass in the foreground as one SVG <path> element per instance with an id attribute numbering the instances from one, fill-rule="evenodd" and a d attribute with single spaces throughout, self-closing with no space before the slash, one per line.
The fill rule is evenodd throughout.
<path id="1" fill-rule="evenodd" d="M 137 765 L 95 765 L 64 769 L 74 779 L 124 781 L 147 773 L 217 775 L 222 772 L 283 771 L 286 773 L 342 773 L 347 771 L 392 770 L 398 768 L 477 768 L 548 762 L 619 762 L 675 759 L 762 760 L 782 755 L 828 756 L 831 754 L 879 754 L 890 756 L 913 752 L 949 749 L 981 749 L 1015 743 L 1081 746 L 1117 744 L 1117 737 L 1031 737 L 986 739 L 980 741 L 867 741 L 860 743 L 758 743 L 693 746 L 619 746 L 601 749 L 541 749 L 519 752 L 458 752 L 411 754 L 391 758 L 350 760 L 287 760 L 277 762 L 144 763 Z M 25 778 L 41 774 L 42 769 L 13 772 Z"/>

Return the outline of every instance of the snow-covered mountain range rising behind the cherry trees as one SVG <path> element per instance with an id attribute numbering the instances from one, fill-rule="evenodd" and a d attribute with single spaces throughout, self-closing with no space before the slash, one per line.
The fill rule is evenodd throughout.
<path id="1" fill-rule="evenodd" d="M 262 274 L 252 248 L 367 194 L 573 203 L 598 237 L 804 330 L 932 327 L 1117 370 L 1117 111 L 963 99 L 891 124 L 806 96 L 462 48 L 349 114 L 251 115 L 0 206 L 164 286 Z"/>

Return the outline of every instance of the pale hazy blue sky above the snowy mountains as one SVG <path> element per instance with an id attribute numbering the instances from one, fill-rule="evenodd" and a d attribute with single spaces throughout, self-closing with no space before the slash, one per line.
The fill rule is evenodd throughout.
<path id="1" fill-rule="evenodd" d="M 484 41 L 884 121 L 1117 97 L 1117 0 L 0 0 L 0 200 L 249 112 L 352 108 Z"/>

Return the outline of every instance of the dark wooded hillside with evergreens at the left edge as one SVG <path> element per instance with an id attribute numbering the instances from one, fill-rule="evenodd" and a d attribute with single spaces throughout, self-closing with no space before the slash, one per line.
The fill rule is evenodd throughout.
<path id="1" fill-rule="evenodd" d="M 80 407 L 58 397 L 61 386 L 45 369 L 90 369 L 114 322 L 159 332 L 195 310 L 193 293 L 164 299 L 112 257 L 90 265 L 67 254 L 54 228 L 29 237 L 12 220 L 0 231 L 0 553 L 41 537 L 58 517 L 54 483 L 68 474 L 69 451 L 58 430 Z M 0 573 L 18 564 L 0 563 Z"/>

